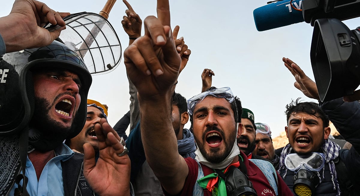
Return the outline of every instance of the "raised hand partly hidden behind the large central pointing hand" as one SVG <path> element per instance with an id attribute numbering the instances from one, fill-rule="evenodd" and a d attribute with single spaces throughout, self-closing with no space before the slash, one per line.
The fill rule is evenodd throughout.
<path id="1" fill-rule="evenodd" d="M 176 25 L 174 31 L 172 32 L 172 35 L 175 40 L 176 51 L 179 53 L 179 56 L 181 57 L 181 66 L 179 70 L 180 73 L 181 71 L 183 71 L 186 64 L 188 63 L 191 51 L 190 49 L 188 49 L 188 45 L 185 44 L 184 37 L 180 37 L 179 39 L 177 39 L 177 34 L 179 33 L 179 29 L 180 29 L 179 25 Z"/>

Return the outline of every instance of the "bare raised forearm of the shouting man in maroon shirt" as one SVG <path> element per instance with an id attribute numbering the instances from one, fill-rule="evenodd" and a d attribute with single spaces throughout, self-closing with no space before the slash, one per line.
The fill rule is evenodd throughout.
<path id="1" fill-rule="evenodd" d="M 139 96 L 139 102 L 141 139 L 149 166 L 167 192 L 179 193 L 188 175 L 188 167 L 177 151 L 170 95 L 160 102 L 141 101 Z"/>

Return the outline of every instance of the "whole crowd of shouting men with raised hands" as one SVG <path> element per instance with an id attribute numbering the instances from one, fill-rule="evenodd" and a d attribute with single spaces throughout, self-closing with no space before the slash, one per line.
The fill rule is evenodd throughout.
<path id="1" fill-rule="evenodd" d="M 81 57 L 55 40 L 69 13 L 15 0 L 0 18 L 0 195 L 359 195 L 357 94 L 321 102 L 316 83 L 283 58 L 295 87 L 318 103 L 286 106 L 289 143 L 275 150 L 270 126 L 230 87 L 213 87 L 212 70 L 200 94 L 175 92 L 191 51 L 179 26 L 170 28 L 168 0 L 144 20 L 143 36 L 123 2 L 131 105 L 114 128 L 107 106 L 87 99 L 92 79 Z M 62 28 L 49 32 L 46 22 Z M 350 147 L 330 139 L 329 121 Z"/>

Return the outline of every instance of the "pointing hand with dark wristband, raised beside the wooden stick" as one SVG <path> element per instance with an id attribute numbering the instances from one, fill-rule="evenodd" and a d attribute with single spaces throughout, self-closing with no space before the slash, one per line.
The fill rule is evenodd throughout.
<path id="1" fill-rule="evenodd" d="M 123 20 L 121 21 L 122 27 L 127 35 L 129 35 L 129 38 L 138 38 L 141 36 L 141 25 L 143 21 L 126 0 L 122 1 L 127 6 L 127 10 L 125 11 L 126 16 L 123 16 Z"/>

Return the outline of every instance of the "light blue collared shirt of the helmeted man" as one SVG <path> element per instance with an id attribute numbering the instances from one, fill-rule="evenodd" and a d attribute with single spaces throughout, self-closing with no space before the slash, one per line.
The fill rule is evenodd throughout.
<path id="1" fill-rule="evenodd" d="M 55 154 L 56 157 L 50 159 L 42 169 L 39 181 L 37 181 L 35 168 L 27 157 L 25 176 L 28 177 L 28 183 L 26 189 L 31 196 L 64 195 L 61 161 L 71 158 L 74 152 L 62 143 L 55 149 Z M 15 183 L 9 195 L 14 195 L 17 187 Z"/>

